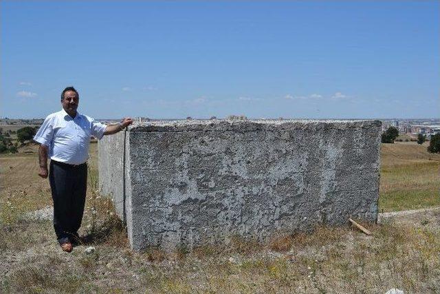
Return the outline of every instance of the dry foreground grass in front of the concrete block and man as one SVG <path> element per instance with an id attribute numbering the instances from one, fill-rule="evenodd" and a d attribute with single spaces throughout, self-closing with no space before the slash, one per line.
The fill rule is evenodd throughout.
<path id="1" fill-rule="evenodd" d="M 203 254 L 197 249 L 140 254 L 103 242 L 94 244 L 91 255 L 84 253 L 85 246 L 66 254 L 52 244 L 34 244 L 20 260 L 6 265 L 0 291 L 51 293 L 67 285 L 65 291 L 80 293 L 384 293 L 394 287 L 436 293 L 439 218 L 437 211 L 423 216 L 423 223 L 391 220 L 370 226 L 373 236 L 347 227 L 318 228 L 290 236 L 282 253 L 272 251 L 272 243 L 244 252 L 206 247 Z M 21 233 L 14 232 L 14 238 Z M 2 237 L 12 238 L 8 233 Z M 61 271 L 65 264 L 67 273 Z"/>

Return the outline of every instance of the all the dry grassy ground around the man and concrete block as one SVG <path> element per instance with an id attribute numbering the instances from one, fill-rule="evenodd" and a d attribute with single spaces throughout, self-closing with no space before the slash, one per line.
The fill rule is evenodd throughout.
<path id="1" fill-rule="evenodd" d="M 83 244 L 70 254 L 56 244 L 50 220 L 23 218 L 52 204 L 36 147 L 0 156 L 0 293 L 440 292 L 440 210 L 366 224 L 372 236 L 319 227 L 266 244 L 235 238 L 192 252 L 133 253 L 111 203 L 96 193 L 96 147 Z M 439 205 L 439 155 L 416 144 L 382 145 L 381 155 L 380 209 Z M 87 246 L 96 251 L 85 253 Z"/>

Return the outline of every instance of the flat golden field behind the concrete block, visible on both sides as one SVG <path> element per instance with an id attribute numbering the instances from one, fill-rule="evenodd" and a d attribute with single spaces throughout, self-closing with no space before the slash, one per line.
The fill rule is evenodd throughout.
<path id="1" fill-rule="evenodd" d="M 91 144 L 89 174 L 92 180 L 98 178 L 97 147 Z M 427 143 L 414 142 L 382 145 L 380 211 L 440 205 L 440 154 L 430 154 L 426 147 Z M 49 184 L 37 174 L 36 148 L 24 147 L 19 154 L 0 155 L 0 204 L 4 204 L 8 196 L 26 211 L 51 204 Z"/>

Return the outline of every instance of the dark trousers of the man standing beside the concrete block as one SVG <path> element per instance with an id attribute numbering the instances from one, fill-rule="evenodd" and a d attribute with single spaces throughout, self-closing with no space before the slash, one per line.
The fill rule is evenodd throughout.
<path id="1" fill-rule="evenodd" d="M 49 182 L 54 200 L 56 238 L 60 244 L 74 242 L 83 220 L 87 164 L 74 166 L 51 160 Z"/>

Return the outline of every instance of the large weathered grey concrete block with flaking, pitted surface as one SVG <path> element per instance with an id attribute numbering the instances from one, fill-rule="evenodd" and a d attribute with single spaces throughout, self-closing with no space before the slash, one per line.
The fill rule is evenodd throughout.
<path id="1" fill-rule="evenodd" d="M 100 182 L 104 193 L 125 199 L 135 250 L 225 242 L 232 235 L 265 240 L 280 231 L 345 224 L 349 216 L 377 220 L 379 121 L 133 125 L 126 132 L 124 189 L 114 187 L 121 185 L 124 140 L 108 138 L 99 145 Z"/>

